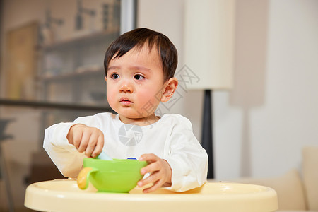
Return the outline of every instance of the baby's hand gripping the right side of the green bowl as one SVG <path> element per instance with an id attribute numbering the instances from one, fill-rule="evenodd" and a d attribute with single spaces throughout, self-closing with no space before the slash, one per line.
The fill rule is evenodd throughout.
<path id="1" fill-rule="evenodd" d="M 162 186 L 171 185 L 172 170 L 167 160 L 163 160 L 154 154 L 143 154 L 139 160 L 146 160 L 149 163 L 140 170 L 141 175 L 145 175 L 147 172 L 150 172 L 151 175 L 146 179 L 141 179 L 138 186 L 143 187 L 146 184 L 153 183 L 152 187 L 143 189 L 144 193 L 154 192 Z"/>

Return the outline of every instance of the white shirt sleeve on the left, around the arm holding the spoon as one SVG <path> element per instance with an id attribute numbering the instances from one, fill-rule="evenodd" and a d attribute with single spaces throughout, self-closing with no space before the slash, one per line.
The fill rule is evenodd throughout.
<path id="1" fill-rule="evenodd" d="M 66 139 L 73 124 L 76 123 L 59 123 L 45 129 L 43 148 L 64 177 L 76 178 L 85 155 L 79 153 Z"/>

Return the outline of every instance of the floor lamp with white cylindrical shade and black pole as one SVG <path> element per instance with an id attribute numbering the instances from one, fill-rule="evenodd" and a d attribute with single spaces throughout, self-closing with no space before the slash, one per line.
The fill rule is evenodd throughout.
<path id="1" fill-rule="evenodd" d="M 214 178 L 212 91 L 232 88 L 235 0 L 187 0 L 184 63 L 198 76 L 192 90 L 204 90 L 201 145 L 208 153 L 208 178 Z"/>

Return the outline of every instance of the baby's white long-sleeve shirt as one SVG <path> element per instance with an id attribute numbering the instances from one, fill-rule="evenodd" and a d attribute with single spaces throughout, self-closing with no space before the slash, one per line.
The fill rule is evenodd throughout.
<path id="1" fill-rule="evenodd" d="M 111 158 L 139 158 L 144 153 L 153 153 L 167 160 L 172 169 L 170 189 L 176 192 L 206 182 L 208 155 L 194 136 L 189 119 L 179 114 L 165 114 L 147 126 L 124 124 L 118 114 L 107 112 L 50 126 L 45 130 L 43 147 L 65 177 L 76 178 L 85 158 L 66 139 L 74 124 L 100 129 L 105 141 L 103 151 Z"/>

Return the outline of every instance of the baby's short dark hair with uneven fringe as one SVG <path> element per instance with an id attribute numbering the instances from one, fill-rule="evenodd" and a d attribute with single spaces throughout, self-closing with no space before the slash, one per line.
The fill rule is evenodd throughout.
<path id="1" fill-rule="evenodd" d="M 131 30 L 120 35 L 117 40 L 112 42 L 105 53 L 105 75 L 107 76 L 108 65 L 112 58 L 122 57 L 134 47 L 142 48 L 145 44 L 148 44 L 149 49 L 152 49 L 153 46 L 157 47 L 163 65 L 163 76 L 165 81 L 175 76 L 175 69 L 177 69 L 178 63 L 175 45 L 172 44 L 167 36 L 147 28 Z"/>

